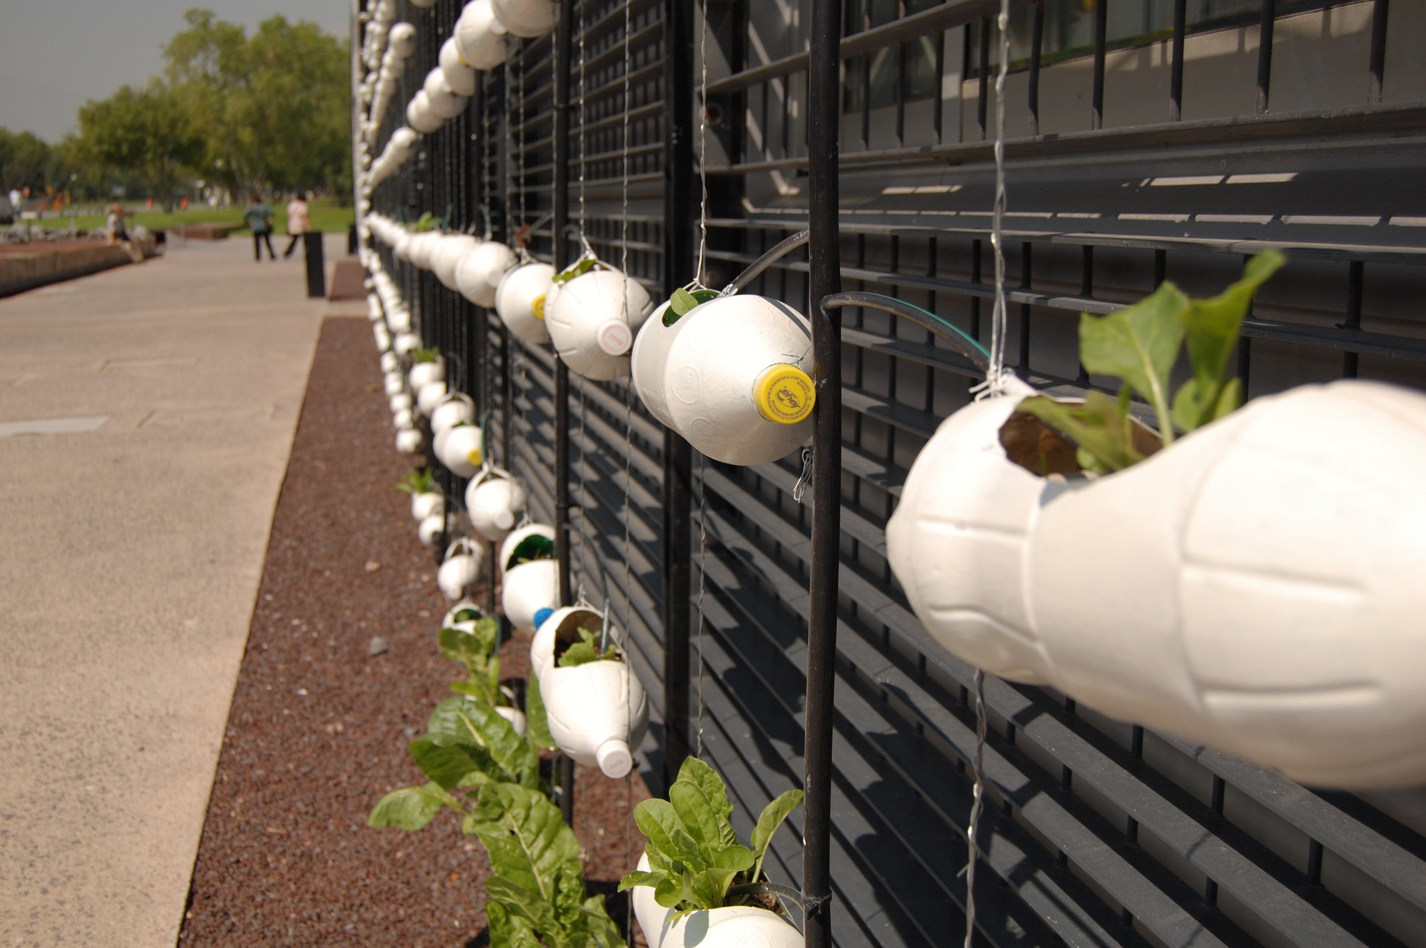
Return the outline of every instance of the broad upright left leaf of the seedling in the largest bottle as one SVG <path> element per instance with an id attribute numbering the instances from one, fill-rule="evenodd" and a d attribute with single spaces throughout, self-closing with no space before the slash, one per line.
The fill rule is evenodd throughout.
<path id="1" fill-rule="evenodd" d="M 1107 316 L 1079 316 L 1079 362 L 1085 371 L 1124 379 L 1156 412 L 1165 443 L 1174 440 L 1168 376 L 1184 341 L 1181 316 L 1188 306 L 1188 297 L 1165 281 L 1132 306 Z"/>

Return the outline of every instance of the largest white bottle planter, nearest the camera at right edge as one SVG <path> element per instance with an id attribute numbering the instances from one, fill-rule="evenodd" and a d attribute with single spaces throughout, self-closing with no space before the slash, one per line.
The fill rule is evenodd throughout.
<path id="1" fill-rule="evenodd" d="M 1308 784 L 1426 783 L 1426 396 L 1302 386 L 1068 483 L 1007 458 L 1018 402 L 948 418 L 887 526 L 941 644 Z"/>

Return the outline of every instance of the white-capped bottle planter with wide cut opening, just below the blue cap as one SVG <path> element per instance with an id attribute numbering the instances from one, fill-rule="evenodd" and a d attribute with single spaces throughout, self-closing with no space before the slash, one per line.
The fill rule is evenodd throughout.
<path id="1" fill-rule="evenodd" d="M 556 653 L 579 642 L 580 627 L 600 632 L 603 619 L 579 606 L 556 609 L 530 643 L 530 670 L 539 677 L 549 733 L 559 750 L 617 780 L 633 768 L 632 748 L 647 730 L 649 701 L 623 657 L 568 669 L 558 664 Z M 610 630 L 609 642 L 623 654 L 617 630 Z"/>

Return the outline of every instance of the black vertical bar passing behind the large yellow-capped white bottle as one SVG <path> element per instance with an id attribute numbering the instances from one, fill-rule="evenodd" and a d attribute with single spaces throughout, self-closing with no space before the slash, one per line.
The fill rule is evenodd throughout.
<path id="1" fill-rule="evenodd" d="M 693 274 L 693 6 L 663 0 L 663 288 L 672 294 Z M 707 29 L 704 26 L 704 29 Z M 786 135 L 790 80 L 783 87 Z M 692 563 L 689 512 L 693 506 L 693 448 L 672 429 L 663 432 L 663 768 L 673 784 L 692 747 L 689 734 L 689 592 Z"/>

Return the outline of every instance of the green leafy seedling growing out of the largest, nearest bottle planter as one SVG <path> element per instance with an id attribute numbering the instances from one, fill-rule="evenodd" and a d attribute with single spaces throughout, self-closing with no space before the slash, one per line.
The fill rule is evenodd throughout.
<path id="1" fill-rule="evenodd" d="M 1243 401 L 1242 382 L 1228 375 L 1228 356 L 1238 344 L 1253 292 L 1283 262 L 1276 251 L 1253 257 L 1243 267 L 1242 279 L 1211 299 L 1188 297 L 1164 282 L 1149 297 L 1107 316 L 1081 314 L 1079 361 L 1091 375 L 1121 379 L 1118 398 L 1091 391 L 1082 402 L 1060 402 L 1037 395 L 1022 401 L 1018 411 L 1068 439 L 1077 448 L 1078 465 L 1095 473 L 1129 468 L 1172 445 L 1178 433 L 1186 435 L 1228 415 Z M 1169 373 L 1185 348 L 1192 378 L 1171 395 Z M 1129 399 L 1135 395 L 1154 411 L 1156 439 L 1145 439 L 1142 428 L 1129 418 Z"/>

